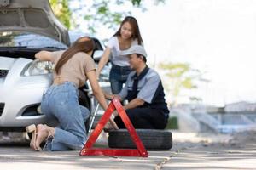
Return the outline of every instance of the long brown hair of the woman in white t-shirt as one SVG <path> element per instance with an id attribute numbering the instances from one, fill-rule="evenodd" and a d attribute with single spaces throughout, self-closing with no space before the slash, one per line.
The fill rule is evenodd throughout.
<path id="1" fill-rule="evenodd" d="M 137 43 L 139 45 L 143 45 L 143 38 L 141 36 L 140 33 L 140 29 L 138 27 L 137 24 L 137 20 L 136 18 L 132 17 L 132 16 L 126 16 L 125 19 L 122 21 L 119 30 L 115 32 L 115 34 L 113 34 L 113 36 L 120 36 L 121 35 L 121 28 L 122 26 L 125 24 L 125 22 L 129 22 L 129 24 L 131 24 L 132 27 L 132 38 L 135 39 L 137 38 Z"/>

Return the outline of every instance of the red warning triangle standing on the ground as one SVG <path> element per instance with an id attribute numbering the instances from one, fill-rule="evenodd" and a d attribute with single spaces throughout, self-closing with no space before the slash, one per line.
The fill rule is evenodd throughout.
<path id="1" fill-rule="evenodd" d="M 102 148 L 93 148 L 96 139 L 98 139 L 100 133 L 102 132 L 103 127 L 108 122 L 110 116 L 113 114 L 113 111 L 117 111 L 122 121 L 125 124 L 128 132 L 131 135 L 131 139 L 137 146 L 137 150 L 134 149 L 102 149 Z M 80 156 L 142 156 L 148 157 L 148 151 L 145 149 L 143 142 L 139 139 L 135 128 L 132 126 L 129 117 L 127 116 L 125 109 L 120 104 L 119 99 L 114 98 L 108 105 L 108 109 L 103 114 L 102 118 L 96 125 L 94 131 L 90 134 L 89 139 L 86 144 L 84 144 L 83 149 L 80 151 Z"/>

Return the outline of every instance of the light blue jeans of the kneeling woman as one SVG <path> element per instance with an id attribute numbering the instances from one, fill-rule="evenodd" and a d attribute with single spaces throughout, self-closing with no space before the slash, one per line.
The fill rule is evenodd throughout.
<path id="1" fill-rule="evenodd" d="M 52 85 L 44 94 L 42 112 L 60 123 L 55 135 L 48 138 L 44 150 L 81 150 L 87 139 L 84 122 L 90 111 L 79 105 L 78 89 L 73 82 Z"/>

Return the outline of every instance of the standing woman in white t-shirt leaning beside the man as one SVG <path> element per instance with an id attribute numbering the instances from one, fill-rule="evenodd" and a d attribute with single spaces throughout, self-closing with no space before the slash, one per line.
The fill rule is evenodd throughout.
<path id="1" fill-rule="evenodd" d="M 111 60 L 112 68 L 109 81 L 111 83 L 112 94 L 119 94 L 123 88 L 123 84 L 126 82 L 128 74 L 131 72 L 128 57 L 121 55 L 121 52 L 137 44 L 143 45 L 137 20 L 132 16 L 127 16 L 122 21 L 119 30 L 108 40 L 107 48 L 96 70 L 96 75 L 99 77 L 104 65 L 107 64 L 109 59 Z"/>

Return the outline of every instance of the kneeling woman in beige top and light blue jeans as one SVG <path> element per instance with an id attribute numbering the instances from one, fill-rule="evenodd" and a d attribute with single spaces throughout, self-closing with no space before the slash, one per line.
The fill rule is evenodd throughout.
<path id="1" fill-rule="evenodd" d="M 54 82 L 42 99 L 42 112 L 60 123 L 58 127 L 39 124 L 26 129 L 32 133 L 31 147 L 41 150 L 81 150 L 86 142 L 84 122 L 89 110 L 79 105 L 78 88 L 89 79 L 93 93 L 104 110 L 108 105 L 96 79 L 96 66 L 91 54 L 95 44 L 90 37 L 80 37 L 66 51 L 38 52 L 35 57 L 55 64 Z"/>

